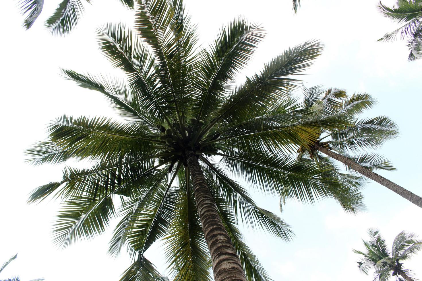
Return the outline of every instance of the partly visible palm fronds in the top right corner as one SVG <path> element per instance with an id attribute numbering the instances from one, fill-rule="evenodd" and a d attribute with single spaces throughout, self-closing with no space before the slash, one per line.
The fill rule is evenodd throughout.
<path id="1" fill-rule="evenodd" d="M 397 0 L 396 5 L 389 8 L 381 2 L 378 5 L 385 17 L 396 21 L 403 26 L 387 33 L 378 41 L 395 40 L 398 36 L 408 40 L 410 54 L 408 60 L 422 58 L 422 1 L 421 0 Z"/>

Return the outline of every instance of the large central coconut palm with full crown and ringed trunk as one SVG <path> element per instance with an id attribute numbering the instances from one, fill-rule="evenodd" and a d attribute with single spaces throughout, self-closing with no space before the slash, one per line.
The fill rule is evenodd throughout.
<path id="1" fill-rule="evenodd" d="M 160 278 L 144 257 L 160 238 L 176 280 L 211 280 L 211 265 L 216 281 L 270 280 L 243 241 L 238 218 L 284 240 L 292 231 L 231 175 L 270 194 L 311 202 L 332 197 L 348 211 L 359 210 L 358 190 L 326 177 L 314 163 L 296 163 L 289 153 L 324 123 L 293 114 L 287 93 L 298 84 L 292 75 L 321 53 L 320 43 L 288 49 L 233 86 L 264 36 L 259 25 L 235 19 L 210 48 L 197 51 L 181 1 L 141 0 L 135 29 L 98 30 L 101 50 L 127 82 L 63 70 L 67 79 L 104 94 L 127 122 L 61 116 L 49 126 L 48 139 L 27 151 L 33 164 L 94 162 L 89 169 L 65 168 L 62 181 L 30 195 L 30 202 L 62 199 L 57 244 L 92 238 L 119 215 L 109 251 L 119 254 L 126 245 L 133 255 L 124 281 Z M 113 195 L 121 199 L 117 212 Z"/>

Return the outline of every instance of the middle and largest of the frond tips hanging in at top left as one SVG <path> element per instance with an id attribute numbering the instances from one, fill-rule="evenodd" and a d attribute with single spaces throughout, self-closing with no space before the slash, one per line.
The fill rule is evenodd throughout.
<path id="1" fill-rule="evenodd" d="M 81 0 L 63 0 L 47 19 L 46 28 L 52 35 L 67 35 L 76 26 L 83 12 Z"/>

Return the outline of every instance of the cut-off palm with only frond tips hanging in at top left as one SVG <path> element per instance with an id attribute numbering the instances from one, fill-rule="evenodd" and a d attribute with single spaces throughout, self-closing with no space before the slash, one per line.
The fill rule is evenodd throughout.
<path id="1" fill-rule="evenodd" d="M 85 0 L 91 3 L 91 0 Z M 53 35 L 67 35 L 78 23 L 84 13 L 84 0 L 63 0 L 53 15 L 45 23 L 46 29 L 49 29 Z M 134 0 L 119 0 L 127 8 L 134 8 Z M 32 24 L 43 10 L 44 0 L 19 0 L 21 13 L 27 17 L 24 19 L 23 26 L 30 29 Z"/>

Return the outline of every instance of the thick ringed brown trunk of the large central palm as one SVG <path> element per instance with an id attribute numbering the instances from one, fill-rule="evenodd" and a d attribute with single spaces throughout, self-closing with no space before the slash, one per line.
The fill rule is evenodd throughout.
<path id="1" fill-rule="evenodd" d="M 196 207 L 211 253 L 215 281 L 246 281 L 242 265 L 223 225 L 217 206 L 193 151 L 187 151 Z"/>

